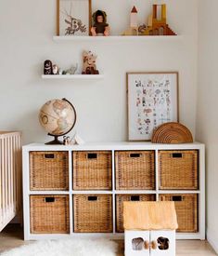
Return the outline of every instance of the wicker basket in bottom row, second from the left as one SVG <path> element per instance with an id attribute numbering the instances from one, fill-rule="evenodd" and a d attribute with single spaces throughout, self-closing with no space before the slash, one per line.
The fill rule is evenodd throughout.
<path id="1" fill-rule="evenodd" d="M 74 232 L 112 232 L 112 195 L 73 195 Z"/>

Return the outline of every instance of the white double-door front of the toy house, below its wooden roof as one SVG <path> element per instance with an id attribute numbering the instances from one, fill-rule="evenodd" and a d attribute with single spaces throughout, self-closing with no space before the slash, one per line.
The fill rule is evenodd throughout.
<path id="1" fill-rule="evenodd" d="M 125 231 L 125 256 L 175 256 L 175 231 Z"/>

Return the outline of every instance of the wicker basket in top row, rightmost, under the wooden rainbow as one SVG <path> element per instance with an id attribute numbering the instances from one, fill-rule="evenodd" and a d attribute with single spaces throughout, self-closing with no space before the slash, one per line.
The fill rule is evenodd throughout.
<path id="1" fill-rule="evenodd" d="M 160 189 L 198 189 L 198 150 L 160 151 L 159 176 Z"/>

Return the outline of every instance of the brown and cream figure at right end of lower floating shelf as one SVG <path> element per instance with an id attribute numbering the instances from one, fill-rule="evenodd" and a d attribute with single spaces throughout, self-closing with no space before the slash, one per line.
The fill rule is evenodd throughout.
<path id="1" fill-rule="evenodd" d="M 96 55 L 91 51 L 83 51 L 82 74 L 99 74 L 98 70 L 96 70 Z"/>

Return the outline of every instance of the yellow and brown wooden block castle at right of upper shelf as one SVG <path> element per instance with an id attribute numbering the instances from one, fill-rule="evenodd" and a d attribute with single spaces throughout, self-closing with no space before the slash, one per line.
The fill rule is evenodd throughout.
<path id="1" fill-rule="evenodd" d="M 176 35 L 167 24 L 166 5 L 153 5 L 153 13 L 148 17 L 147 28 L 139 35 Z"/>

